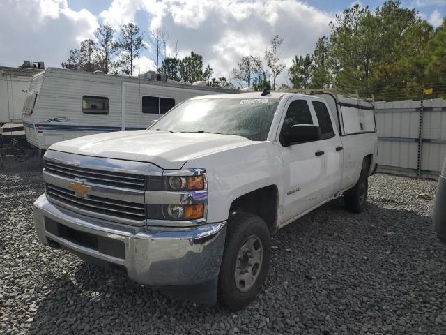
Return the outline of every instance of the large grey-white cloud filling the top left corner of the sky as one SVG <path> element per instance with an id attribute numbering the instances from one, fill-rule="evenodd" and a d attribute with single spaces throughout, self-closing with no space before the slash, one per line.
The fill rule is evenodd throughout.
<path id="1" fill-rule="evenodd" d="M 93 38 L 96 27 L 93 14 L 71 10 L 66 0 L 0 1 L 0 65 L 31 60 L 60 67 L 68 50 Z"/>

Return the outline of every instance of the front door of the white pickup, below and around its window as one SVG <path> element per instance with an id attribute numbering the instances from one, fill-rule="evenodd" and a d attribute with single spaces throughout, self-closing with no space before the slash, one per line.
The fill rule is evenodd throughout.
<path id="1" fill-rule="evenodd" d="M 295 124 L 317 124 L 316 114 L 310 108 L 305 98 L 290 98 L 286 103 L 286 114 L 279 133 L 279 149 L 284 161 L 284 214 L 283 221 L 316 206 L 324 199 L 324 174 L 326 170 L 326 155 L 321 142 L 303 142 L 284 145 L 281 134 L 288 131 Z M 317 153 L 317 154 L 316 154 Z"/>

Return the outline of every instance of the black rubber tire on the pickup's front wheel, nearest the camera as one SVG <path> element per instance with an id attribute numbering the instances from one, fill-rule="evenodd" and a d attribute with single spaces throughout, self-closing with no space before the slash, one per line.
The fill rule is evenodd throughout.
<path id="1" fill-rule="evenodd" d="M 238 258 L 239 252 L 243 253 L 242 246 L 254 239 L 257 245 L 261 242 L 261 264 L 255 270 L 256 278 L 252 281 L 251 287 L 242 288 L 240 291 L 239 281 L 236 284 L 236 271 L 240 273 L 241 258 Z M 226 243 L 222 259 L 222 267 L 218 278 L 218 299 L 220 303 L 229 309 L 236 311 L 247 306 L 256 298 L 257 293 L 265 282 L 268 274 L 268 266 L 271 255 L 271 237 L 268 226 L 259 216 L 250 213 L 238 213 L 229 218 L 228 228 L 226 230 Z M 250 256 L 249 256 L 250 258 Z M 248 260 L 249 262 L 249 260 Z M 249 265 L 249 264 L 248 264 Z M 245 270 L 246 271 L 246 270 Z M 240 274 L 238 274 L 240 276 Z"/>

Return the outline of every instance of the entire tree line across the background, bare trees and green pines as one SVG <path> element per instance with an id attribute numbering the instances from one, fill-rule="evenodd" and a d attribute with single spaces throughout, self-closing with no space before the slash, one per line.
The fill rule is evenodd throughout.
<path id="1" fill-rule="evenodd" d="M 108 25 L 95 31 L 96 41 L 84 40 L 70 50 L 65 68 L 133 75 L 134 60 L 146 48 L 144 32 L 124 24 L 118 38 Z M 281 59 L 283 39 L 274 36 L 263 59 L 247 55 L 231 71 L 231 78 L 213 77 L 203 57 L 191 52 L 178 58 L 178 48 L 167 55 L 169 35 L 164 29 L 148 34 L 157 73 L 180 82 L 206 81 L 210 87 L 254 89 L 312 89 L 336 87 L 341 91 L 380 92 L 410 96 L 424 83 L 446 84 L 446 20 L 434 29 L 415 9 L 390 0 L 375 10 L 354 4 L 330 22 L 330 35 L 316 41 L 312 54 L 296 55 L 286 71 L 287 83 L 277 85 L 286 66 Z M 416 88 L 416 89 L 415 89 Z M 387 92 L 387 93 L 386 93 Z"/>

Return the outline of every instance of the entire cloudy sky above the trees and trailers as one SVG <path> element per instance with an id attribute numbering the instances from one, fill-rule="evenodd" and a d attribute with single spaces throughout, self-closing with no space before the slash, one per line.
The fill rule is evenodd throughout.
<path id="1" fill-rule="evenodd" d="M 178 41 L 179 56 L 203 55 L 214 76 L 231 77 L 241 57 L 263 59 L 270 39 L 284 39 L 280 57 L 287 68 L 295 55 L 311 54 L 316 40 L 330 34 L 329 22 L 344 8 L 360 3 L 374 9 L 384 1 L 360 0 L 0 0 L 0 66 L 19 66 L 24 60 L 60 67 L 68 51 L 86 38 L 94 39 L 99 24 L 118 30 L 136 23 L 148 32 L 163 28 L 169 34 L 167 54 Z M 438 27 L 446 16 L 446 0 L 403 0 Z M 137 59 L 137 70 L 154 70 L 153 50 Z M 286 70 L 279 82 L 287 82 Z"/>

